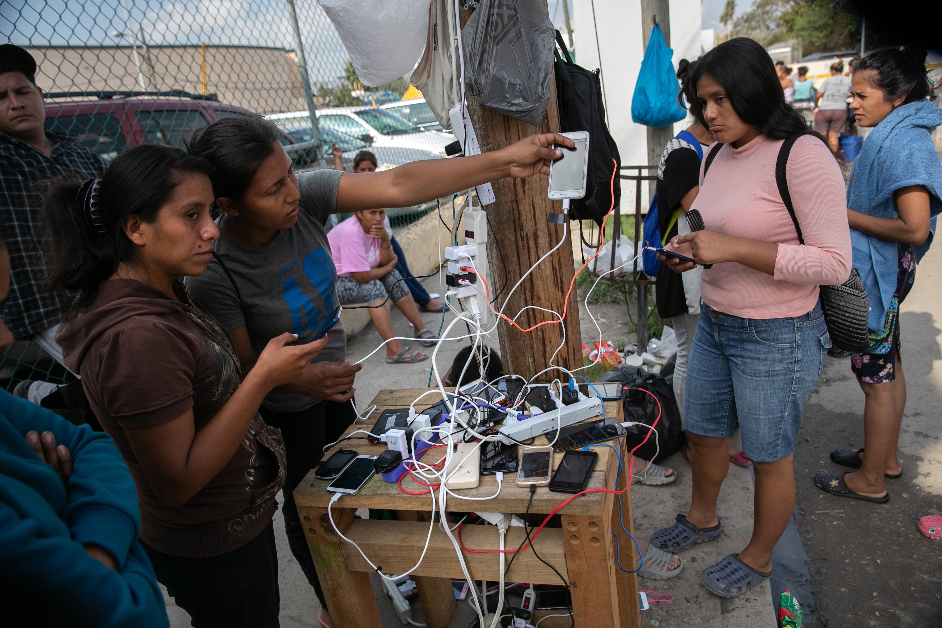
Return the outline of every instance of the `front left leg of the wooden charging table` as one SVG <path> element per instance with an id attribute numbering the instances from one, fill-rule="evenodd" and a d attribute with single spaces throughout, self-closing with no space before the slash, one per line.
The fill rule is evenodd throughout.
<path id="1" fill-rule="evenodd" d="M 353 512 L 353 508 L 331 508 L 338 530 L 344 532 L 349 527 Z M 340 548 L 344 541 L 333 531 L 327 508 L 299 506 L 298 513 L 335 628 L 382 626 L 369 573 L 347 570 Z"/>

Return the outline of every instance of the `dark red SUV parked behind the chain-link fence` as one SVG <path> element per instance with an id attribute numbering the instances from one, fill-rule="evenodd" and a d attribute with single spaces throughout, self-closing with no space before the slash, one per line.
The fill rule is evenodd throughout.
<path id="1" fill-rule="evenodd" d="M 174 89 L 162 92 L 101 91 L 46 94 L 45 128 L 78 138 L 108 164 L 138 144 L 182 148 L 184 140 L 220 118 L 252 115 L 219 103 L 214 95 Z M 317 169 L 313 142 L 284 134 L 282 144 L 295 168 Z"/>

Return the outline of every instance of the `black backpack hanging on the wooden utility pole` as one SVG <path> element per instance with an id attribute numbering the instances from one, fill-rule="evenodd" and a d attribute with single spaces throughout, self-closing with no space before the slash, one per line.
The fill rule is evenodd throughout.
<path id="1" fill-rule="evenodd" d="M 611 138 L 609 127 L 605 123 L 599 71 L 589 72 L 573 63 L 560 31 L 556 31 L 556 42 L 565 56 L 565 59 L 562 59 L 559 51 L 554 52 L 560 131 L 589 132 L 589 176 L 586 181 L 586 195 L 583 199 L 573 199 L 569 217 L 573 220 L 594 220 L 601 225 L 609 209 L 617 208 L 622 200 L 622 184 L 617 170 L 622 166 L 622 157 L 618 154 L 618 146 Z M 611 180 L 613 168 L 616 169 L 614 184 Z"/>

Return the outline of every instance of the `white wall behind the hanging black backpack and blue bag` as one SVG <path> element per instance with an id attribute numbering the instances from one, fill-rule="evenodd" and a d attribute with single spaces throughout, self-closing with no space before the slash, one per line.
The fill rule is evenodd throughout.
<path id="1" fill-rule="evenodd" d="M 577 62 L 594 70 L 601 68 L 609 131 L 618 144 L 622 164 L 647 163 L 647 131 L 631 121 L 631 96 L 642 67 L 642 8 L 639 0 L 572 0 Z M 681 58 L 700 56 L 700 0 L 671 0 L 671 43 L 674 67 Z M 650 28 L 650 26 L 648 26 Z M 596 43 L 597 29 L 597 43 Z M 677 130 L 689 125 L 678 123 Z M 622 182 L 622 212 L 633 213 L 634 182 Z M 648 203 L 647 185 L 642 185 L 642 206 Z"/>

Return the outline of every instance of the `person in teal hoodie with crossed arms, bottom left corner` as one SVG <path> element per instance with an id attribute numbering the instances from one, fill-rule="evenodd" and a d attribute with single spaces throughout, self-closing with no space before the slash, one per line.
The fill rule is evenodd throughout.
<path id="1" fill-rule="evenodd" d="M 8 291 L 0 234 L 0 302 Z M 12 342 L 0 319 L 0 349 Z M 137 491 L 111 437 L 0 390 L 0 602 L 7 612 L 28 613 L 32 625 L 168 626 L 139 531 Z"/>

